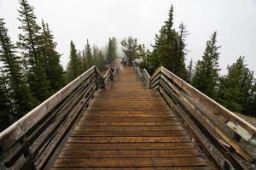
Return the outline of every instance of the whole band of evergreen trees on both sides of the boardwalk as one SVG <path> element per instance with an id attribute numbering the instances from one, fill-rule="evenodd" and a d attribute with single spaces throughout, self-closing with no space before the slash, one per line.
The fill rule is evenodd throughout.
<path id="1" fill-rule="evenodd" d="M 0 131 L 92 65 L 104 71 L 105 65 L 118 57 L 115 37 L 109 37 L 105 48 L 91 45 L 86 39 L 84 48 L 78 50 L 71 41 L 67 71 L 64 71 L 49 25 L 44 20 L 38 24 L 34 8 L 26 0 L 19 3 L 18 42 L 11 41 L 5 22 L 0 19 Z M 135 59 L 142 59 L 140 67 L 146 68 L 149 74 L 162 65 L 230 111 L 256 116 L 256 80 L 245 57 L 240 56 L 235 63 L 228 65 L 228 73 L 221 76 L 218 33 L 214 31 L 202 58 L 195 65 L 192 59 L 189 65 L 185 65 L 185 41 L 189 32 L 183 23 L 177 30 L 174 28 L 173 10 L 171 7 L 167 20 L 155 35 L 152 51 L 138 43 L 135 37 L 126 37 L 120 42 L 128 65 L 132 65 Z"/>

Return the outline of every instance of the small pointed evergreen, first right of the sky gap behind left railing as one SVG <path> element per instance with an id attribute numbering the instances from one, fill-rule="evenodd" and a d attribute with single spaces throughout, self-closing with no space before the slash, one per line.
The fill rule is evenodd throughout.
<path id="1" fill-rule="evenodd" d="M 83 63 L 79 59 L 77 54 L 77 49 L 73 44 L 73 41 L 70 42 L 70 60 L 67 65 L 67 78 L 71 82 L 76 77 L 79 77 L 83 73 Z"/>

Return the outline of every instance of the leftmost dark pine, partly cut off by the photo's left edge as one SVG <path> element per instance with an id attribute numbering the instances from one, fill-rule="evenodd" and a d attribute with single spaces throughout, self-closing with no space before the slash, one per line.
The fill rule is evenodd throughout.
<path id="1" fill-rule="evenodd" d="M 5 81 L 9 87 L 9 100 L 12 101 L 13 112 L 10 116 L 16 120 L 32 110 L 36 105 L 36 99 L 32 97 L 25 77 L 22 75 L 20 56 L 15 54 L 15 45 L 10 41 L 3 19 L 0 19 L 0 60 L 3 62 L 2 74 L 5 75 Z"/>

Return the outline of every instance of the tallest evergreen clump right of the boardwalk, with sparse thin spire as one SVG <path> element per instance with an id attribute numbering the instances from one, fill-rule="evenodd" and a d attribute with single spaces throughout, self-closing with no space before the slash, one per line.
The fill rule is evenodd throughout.
<path id="1" fill-rule="evenodd" d="M 173 6 L 171 6 L 165 26 L 162 26 L 160 34 L 155 36 L 154 50 L 150 57 L 150 65 L 153 70 L 162 65 L 178 77 L 185 78 L 187 76 L 184 62 L 184 38 L 187 35 L 188 31 L 183 23 L 179 26 L 178 32 L 173 28 Z"/>

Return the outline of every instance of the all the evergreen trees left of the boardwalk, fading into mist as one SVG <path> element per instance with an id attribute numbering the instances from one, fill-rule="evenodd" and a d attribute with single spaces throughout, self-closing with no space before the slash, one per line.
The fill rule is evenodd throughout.
<path id="1" fill-rule="evenodd" d="M 115 37 L 109 38 L 106 49 L 91 48 L 87 40 L 84 49 L 77 51 L 71 41 L 65 72 L 49 25 L 44 20 L 38 24 L 34 8 L 26 0 L 19 3 L 18 42 L 11 41 L 0 19 L 0 132 L 92 65 L 103 71 L 117 57 Z"/>

